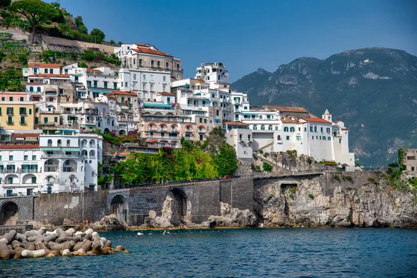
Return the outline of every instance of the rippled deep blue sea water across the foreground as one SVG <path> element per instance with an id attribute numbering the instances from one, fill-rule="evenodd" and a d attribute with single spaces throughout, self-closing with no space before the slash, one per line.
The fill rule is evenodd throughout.
<path id="1" fill-rule="evenodd" d="M 0 277 L 414 277 L 417 229 L 101 233 L 131 254 L 0 261 Z M 149 234 L 150 233 L 150 234 Z"/>

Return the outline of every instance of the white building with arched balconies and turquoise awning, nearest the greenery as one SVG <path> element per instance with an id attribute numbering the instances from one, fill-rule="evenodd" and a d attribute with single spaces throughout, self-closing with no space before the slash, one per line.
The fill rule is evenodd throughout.
<path id="1" fill-rule="evenodd" d="M 98 163 L 102 159 L 101 136 L 59 130 L 40 136 L 42 193 L 97 191 Z"/>

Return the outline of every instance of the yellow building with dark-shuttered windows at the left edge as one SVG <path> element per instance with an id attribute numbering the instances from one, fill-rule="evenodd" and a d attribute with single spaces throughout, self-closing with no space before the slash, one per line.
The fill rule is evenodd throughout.
<path id="1" fill-rule="evenodd" d="M 31 101 L 0 101 L 0 126 L 7 130 L 33 129 L 35 104 Z"/>

